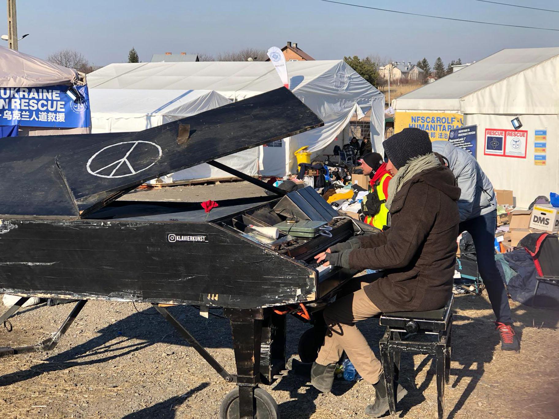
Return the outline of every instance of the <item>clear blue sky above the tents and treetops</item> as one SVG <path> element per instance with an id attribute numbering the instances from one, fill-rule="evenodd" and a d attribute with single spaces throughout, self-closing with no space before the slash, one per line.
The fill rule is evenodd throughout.
<path id="1" fill-rule="evenodd" d="M 553 0 L 499 0 L 559 9 Z M 559 28 L 559 13 L 475 0 L 345 0 L 366 6 L 515 25 Z M 319 0 L 19 0 L 20 51 L 40 58 L 74 49 L 93 64 L 125 62 L 136 48 L 151 54 L 216 54 L 243 47 L 282 47 L 286 41 L 315 59 L 378 54 L 414 63 L 484 58 L 503 48 L 559 46 L 559 32 L 451 22 L 324 3 Z M 6 33 L 6 6 L 0 6 Z M 7 43 L 5 41 L 3 45 Z"/>

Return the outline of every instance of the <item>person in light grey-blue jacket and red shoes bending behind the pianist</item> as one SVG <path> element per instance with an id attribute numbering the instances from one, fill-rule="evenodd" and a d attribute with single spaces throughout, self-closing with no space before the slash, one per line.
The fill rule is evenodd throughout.
<path id="1" fill-rule="evenodd" d="M 433 141 L 433 152 L 442 156 L 442 163 L 452 170 L 461 189 L 458 199 L 458 231 L 467 231 L 472 235 L 477 268 L 487 289 L 496 317 L 495 325 L 501 336 L 501 350 L 506 354 L 518 354 L 520 346 L 514 335 L 509 299 L 503 278 L 495 264 L 497 198 L 493 185 L 477 160 L 466 150 L 455 147 L 448 141 Z"/>

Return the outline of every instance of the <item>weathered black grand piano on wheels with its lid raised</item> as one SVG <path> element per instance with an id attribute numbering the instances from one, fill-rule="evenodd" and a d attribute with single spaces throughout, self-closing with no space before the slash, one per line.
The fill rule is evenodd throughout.
<path id="1" fill-rule="evenodd" d="M 285 313 L 320 318 L 316 313 L 355 272 L 316 266 L 313 256 L 370 228 L 340 216 L 312 188 L 286 193 L 215 159 L 321 125 L 280 88 L 140 132 L 3 139 L 0 175 L 17 175 L 18 189 L 0 184 L 0 292 L 21 298 L 0 323 L 30 297 L 78 301 L 51 337 L 1 347 L 0 357 L 52 349 L 88 299 L 149 302 L 236 383 L 221 417 L 278 417 L 257 384 L 272 383 L 285 369 Z M 219 202 L 209 213 L 199 203 L 117 201 L 146 180 L 204 162 L 271 195 Z M 309 220 L 324 222 L 328 234 L 272 241 L 251 234 Z M 169 304 L 224 308 L 235 375 L 173 318 Z"/>

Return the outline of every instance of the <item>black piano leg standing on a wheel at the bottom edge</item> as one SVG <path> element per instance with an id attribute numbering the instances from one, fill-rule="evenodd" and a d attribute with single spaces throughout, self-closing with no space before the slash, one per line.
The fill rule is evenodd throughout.
<path id="1" fill-rule="evenodd" d="M 260 382 L 260 344 L 264 311 L 253 308 L 225 308 L 231 322 L 233 350 L 237 368 L 237 386 L 221 404 L 222 418 L 277 418 L 277 404 L 266 391 L 257 388 Z"/>

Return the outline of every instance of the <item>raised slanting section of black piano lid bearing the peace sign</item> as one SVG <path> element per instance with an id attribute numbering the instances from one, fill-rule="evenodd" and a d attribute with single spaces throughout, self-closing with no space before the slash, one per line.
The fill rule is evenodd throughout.
<path id="1" fill-rule="evenodd" d="M 179 133 L 190 126 L 188 139 Z M 56 158 L 80 215 L 146 180 L 323 125 L 285 88 L 140 132 L 95 141 Z M 180 137 L 180 139 L 179 139 Z"/>

